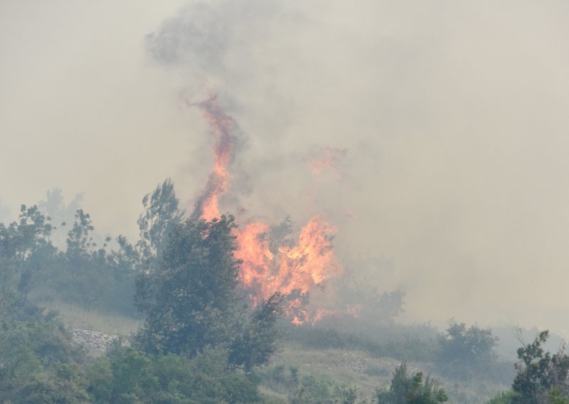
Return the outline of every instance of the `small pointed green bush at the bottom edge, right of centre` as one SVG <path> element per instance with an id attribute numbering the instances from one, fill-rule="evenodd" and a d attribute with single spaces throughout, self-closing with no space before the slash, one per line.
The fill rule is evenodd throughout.
<path id="1" fill-rule="evenodd" d="M 437 404 L 448 400 L 436 379 L 427 376 L 423 380 L 422 372 L 409 375 L 406 362 L 395 369 L 389 390 L 378 390 L 376 398 L 378 404 Z"/>

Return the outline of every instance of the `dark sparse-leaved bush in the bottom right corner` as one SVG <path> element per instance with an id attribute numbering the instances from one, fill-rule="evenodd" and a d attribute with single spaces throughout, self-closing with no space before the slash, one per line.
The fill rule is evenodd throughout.
<path id="1" fill-rule="evenodd" d="M 523 344 L 518 349 L 518 371 L 512 390 L 513 404 L 541 404 L 548 402 L 563 403 L 569 393 L 569 356 L 563 347 L 553 355 L 544 351 L 543 345 L 549 337 L 549 331 L 542 331 L 531 344 Z"/>

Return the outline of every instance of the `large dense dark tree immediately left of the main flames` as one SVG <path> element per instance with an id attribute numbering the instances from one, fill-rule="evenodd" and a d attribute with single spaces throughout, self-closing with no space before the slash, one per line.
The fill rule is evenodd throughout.
<path id="1" fill-rule="evenodd" d="M 137 339 L 144 349 L 193 357 L 229 343 L 239 300 L 234 228 L 233 216 L 173 226 L 156 268 L 137 279 L 135 303 L 145 316 Z"/>

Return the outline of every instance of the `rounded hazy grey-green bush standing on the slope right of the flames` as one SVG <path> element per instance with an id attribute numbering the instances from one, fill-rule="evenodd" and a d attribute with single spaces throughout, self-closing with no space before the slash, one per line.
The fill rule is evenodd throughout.
<path id="1" fill-rule="evenodd" d="M 435 361 L 440 371 L 454 378 L 472 378 L 474 373 L 488 371 L 495 361 L 494 346 L 498 338 L 491 329 L 479 326 L 467 327 L 464 323 L 451 321 L 448 328 L 437 338 L 438 350 Z"/>

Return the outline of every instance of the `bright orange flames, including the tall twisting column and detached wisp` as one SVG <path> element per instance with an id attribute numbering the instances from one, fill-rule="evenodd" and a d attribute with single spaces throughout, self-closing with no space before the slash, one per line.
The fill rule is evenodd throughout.
<path id="1" fill-rule="evenodd" d="M 228 191 L 230 184 L 228 167 L 233 160 L 233 132 L 237 124 L 220 109 L 216 95 L 203 102 L 186 104 L 201 109 L 216 138 L 213 171 L 193 213 L 198 218 L 212 220 L 220 216 L 219 197 Z M 329 150 L 329 156 L 326 154 L 325 158 L 331 159 L 334 166 L 337 154 L 345 154 L 345 151 Z M 304 225 L 296 245 L 275 245 L 278 240 L 272 235 L 272 228 L 262 222 L 250 222 L 243 229 L 235 230 L 235 257 L 242 261 L 240 284 L 252 304 L 255 306 L 281 292 L 286 297 L 285 312 L 294 324 L 317 321 L 328 314 L 322 309 L 310 312 L 307 301 L 310 292 L 342 272 L 331 243 L 337 231 L 322 216 L 315 216 Z"/>

